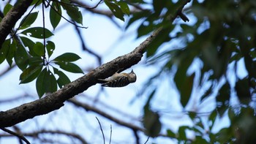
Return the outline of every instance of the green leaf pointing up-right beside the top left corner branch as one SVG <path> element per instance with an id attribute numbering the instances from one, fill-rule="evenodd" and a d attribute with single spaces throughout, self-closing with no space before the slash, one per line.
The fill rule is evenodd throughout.
<path id="1" fill-rule="evenodd" d="M 19 29 L 26 29 L 31 26 L 31 24 L 34 23 L 35 20 L 37 20 L 37 15 L 38 12 L 31 12 L 29 15 L 26 15 L 26 17 L 21 20 Z"/>

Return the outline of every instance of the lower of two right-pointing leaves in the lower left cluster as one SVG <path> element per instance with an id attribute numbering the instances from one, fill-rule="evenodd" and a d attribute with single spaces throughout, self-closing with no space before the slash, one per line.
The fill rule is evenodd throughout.
<path id="1" fill-rule="evenodd" d="M 78 67 L 78 65 L 69 63 L 69 62 L 56 62 L 55 64 L 58 64 L 61 69 L 66 70 L 67 72 L 73 72 L 73 73 L 82 73 L 83 70 Z"/>

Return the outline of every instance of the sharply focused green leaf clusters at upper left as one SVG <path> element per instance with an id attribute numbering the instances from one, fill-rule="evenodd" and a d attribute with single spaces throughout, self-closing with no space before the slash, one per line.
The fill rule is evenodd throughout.
<path id="1" fill-rule="evenodd" d="M 41 4 L 42 1 L 34 1 L 34 7 Z M 46 3 L 46 1 L 45 1 Z M 82 24 L 83 17 L 78 7 L 75 7 L 68 0 L 51 1 L 48 4 L 42 3 L 44 7 L 50 8 L 50 23 L 53 29 L 56 29 L 61 20 L 61 9 L 67 11 L 67 15 L 77 23 Z M 11 4 L 4 7 L 4 15 L 12 8 Z M 44 11 L 42 11 L 44 12 Z M 5 59 L 10 67 L 12 59 L 23 72 L 20 74 L 20 83 L 29 83 L 35 79 L 37 94 L 39 98 L 45 93 L 52 93 L 57 90 L 57 86 L 62 88 L 70 83 L 69 77 L 64 72 L 56 68 L 64 69 L 67 72 L 83 73 L 76 64 L 72 63 L 80 59 L 75 53 L 64 53 L 61 56 L 50 59 L 55 50 L 54 42 L 46 41 L 53 33 L 45 27 L 31 27 L 37 19 L 38 12 L 30 12 L 21 20 L 17 29 L 13 29 L 12 37 L 6 39 L 2 48 L 0 63 Z M 33 39 L 44 39 L 44 42 L 34 42 Z M 56 79 L 58 77 L 58 79 Z"/>

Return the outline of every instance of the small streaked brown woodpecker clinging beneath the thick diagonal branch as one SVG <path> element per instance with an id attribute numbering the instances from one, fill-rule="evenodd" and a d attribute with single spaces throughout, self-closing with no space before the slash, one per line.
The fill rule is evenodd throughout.
<path id="1" fill-rule="evenodd" d="M 129 73 L 115 73 L 111 77 L 106 79 L 99 79 L 99 83 L 102 83 L 102 86 L 107 87 L 123 87 L 129 85 L 129 83 L 135 83 L 136 75 L 135 72 Z"/>

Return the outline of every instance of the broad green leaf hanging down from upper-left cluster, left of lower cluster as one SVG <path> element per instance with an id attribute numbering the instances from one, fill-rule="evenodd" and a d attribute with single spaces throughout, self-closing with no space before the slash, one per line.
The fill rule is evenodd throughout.
<path id="1" fill-rule="evenodd" d="M 29 55 L 26 52 L 26 49 L 23 47 L 23 45 L 18 45 L 18 48 L 14 56 L 14 60 L 18 68 L 20 68 L 21 70 L 26 69 L 26 67 L 29 64 L 28 58 L 29 58 Z"/>

